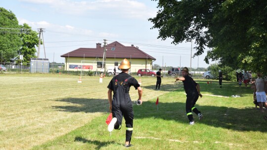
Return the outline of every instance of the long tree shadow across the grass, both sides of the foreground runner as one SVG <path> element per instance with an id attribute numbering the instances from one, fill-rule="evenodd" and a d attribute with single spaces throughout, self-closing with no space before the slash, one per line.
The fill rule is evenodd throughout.
<path id="1" fill-rule="evenodd" d="M 68 98 L 58 100 L 70 103 L 70 106 L 53 106 L 58 111 L 65 112 L 108 112 L 109 104 L 103 99 L 77 99 Z M 78 104 L 78 106 L 73 106 Z M 188 123 L 185 113 L 185 103 L 159 103 L 159 111 L 155 102 L 147 101 L 142 105 L 134 107 L 134 118 L 162 118 L 165 120 L 175 120 L 181 123 Z M 196 107 L 204 115 L 204 119 L 198 121 L 196 114 L 193 114 L 196 124 L 202 123 L 209 126 L 221 127 L 237 131 L 261 131 L 267 132 L 267 121 L 264 114 L 255 110 L 254 105 L 251 108 L 228 108 L 218 106 L 198 106 Z"/>

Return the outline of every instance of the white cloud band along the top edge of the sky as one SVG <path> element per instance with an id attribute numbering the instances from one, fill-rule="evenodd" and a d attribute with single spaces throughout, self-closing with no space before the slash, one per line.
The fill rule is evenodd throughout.
<path id="1" fill-rule="evenodd" d="M 156 14 L 156 8 L 149 8 L 137 0 L 21 0 L 29 3 L 47 4 L 54 11 L 68 15 L 94 17 L 121 17 L 147 19 Z"/>

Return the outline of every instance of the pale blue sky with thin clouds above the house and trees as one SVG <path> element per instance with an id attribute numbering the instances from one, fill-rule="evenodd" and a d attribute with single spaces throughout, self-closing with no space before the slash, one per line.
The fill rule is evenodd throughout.
<path id="1" fill-rule="evenodd" d="M 19 24 L 27 23 L 32 30 L 44 29 L 44 46 L 40 58 L 64 63 L 60 57 L 78 48 L 95 48 L 96 43 L 118 41 L 125 46 L 138 46 L 156 58 L 153 64 L 173 67 L 204 67 L 207 50 L 199 57 L 194 41 L 172 44 L 171 39 L 158 39 L 158 29 L 148 18 L 156 16 L 157 1 L 153 0 L 0 0 L 0 7 L 11 10 Z"/>

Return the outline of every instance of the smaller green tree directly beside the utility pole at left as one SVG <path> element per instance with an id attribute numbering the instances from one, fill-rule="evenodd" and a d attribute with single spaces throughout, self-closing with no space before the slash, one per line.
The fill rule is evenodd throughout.
<path id="1" fill-rule="evenodd" d="M 30 63 L 31 58 L 36 58 L 35 53 L 37 52 L 35 46 L 39 43 L 38 33 L 32 30 L 28 24 L 24 23 L 20 25 L 21 34 L 19 37 L 22 39 L 23 44 L 18 50 L 18 54 L 23 55 L 23 63 Z M 16 60 L 19 59 L 16 58 Z"/>

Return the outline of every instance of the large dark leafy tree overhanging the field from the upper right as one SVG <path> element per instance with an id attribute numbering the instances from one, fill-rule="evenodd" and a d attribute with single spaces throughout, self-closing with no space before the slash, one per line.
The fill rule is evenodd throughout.
<path id="1" fill-rule="evenodd" d="M 154 0 L 159 11 L 149 21 L 158 38 L 174 44 L 195 40 L 194 56 L 232 68 L 267 72 L 267 0 Z"/>

